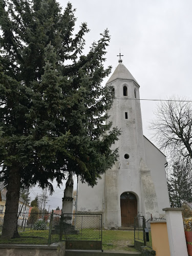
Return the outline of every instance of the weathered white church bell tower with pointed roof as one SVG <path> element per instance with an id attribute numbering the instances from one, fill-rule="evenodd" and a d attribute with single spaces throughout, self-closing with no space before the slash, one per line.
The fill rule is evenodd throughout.
<path id="1" fill-rule="evenodd" d="M 119 59 L 106 82 L 112 86 L 114 102 L 109 122 L 121 131 L 114 148 L 119 159 L 105 173 L 105 226 L 132 226 L 134 217 L 159 217 L 157 196 L 151 172 L 145 163 L 139 84 Z M 120 199 L 120 200 L 119 200 Z"/>

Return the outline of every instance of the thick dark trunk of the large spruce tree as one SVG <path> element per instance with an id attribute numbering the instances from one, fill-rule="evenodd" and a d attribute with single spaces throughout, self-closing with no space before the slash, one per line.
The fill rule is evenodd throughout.
<path id="1" fill-rule="evenodd" d="M 6 195 L 6 209 L 2 230 L 2 239 L 11 239 L 18 236 L 17 213 L 20 191 L 19 167 L 13 166 L 9 170 L 9 179 Z"/>

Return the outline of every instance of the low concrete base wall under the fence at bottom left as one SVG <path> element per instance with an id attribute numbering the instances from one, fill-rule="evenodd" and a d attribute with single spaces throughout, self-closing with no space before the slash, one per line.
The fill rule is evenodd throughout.
<path id="1" fill-rule="evenodd" d="M 51 245 L 0 244 L 0 256 L 65 256 L 66 243 Z"/>

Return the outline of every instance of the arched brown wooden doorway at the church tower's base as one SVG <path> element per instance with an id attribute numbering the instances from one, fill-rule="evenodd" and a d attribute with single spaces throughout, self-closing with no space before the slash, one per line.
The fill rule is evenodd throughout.
<path id="1" fill-rule="evenodd" d="M 134 218 L 137 216 L 137 198 L 131 192 L 121 194 L 121 226 L 134 226 Z"/>

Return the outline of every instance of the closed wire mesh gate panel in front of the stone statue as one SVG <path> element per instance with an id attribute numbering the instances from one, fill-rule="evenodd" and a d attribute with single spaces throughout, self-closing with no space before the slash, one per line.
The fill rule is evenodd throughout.
<path id="1" fill-rule="evenodd" d="M 66 249 L 102 250 L 102 215 L 63 214 L 59 225 L 53 226 L 54 233 L 66 241 Z"/>

